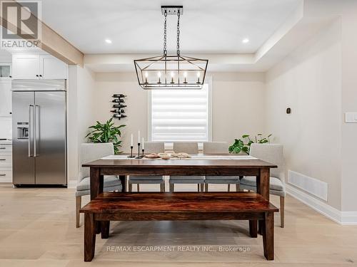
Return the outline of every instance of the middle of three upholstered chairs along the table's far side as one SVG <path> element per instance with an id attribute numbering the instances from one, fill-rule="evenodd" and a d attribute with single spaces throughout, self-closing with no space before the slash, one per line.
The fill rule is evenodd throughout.
<path id="1" fill-rule="evenodd" d="M 175 153 L 186 152 L 188 154 L 198 154 L 197 142 L 174 142 Z M 204 176 L 170 176 L 170 192 L 174 192 L 175 184 L 197 184 L 197 191 L 203 192 Z M 200 188 L 201 186 L 201 188 Z"/>

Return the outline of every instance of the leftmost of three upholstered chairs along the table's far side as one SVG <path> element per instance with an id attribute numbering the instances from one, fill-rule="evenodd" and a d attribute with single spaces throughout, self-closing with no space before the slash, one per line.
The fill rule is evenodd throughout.
<path id="1" fill-rule="evenodd" d="M 146 154 L 161 153 L 165 151 L 164 142 L 145 142 Z M 128 180 L 129 192 L 133 191 L 133 184 L 136 184 L 137 191 L 140 192 L 140 184 L 160 184 L 160 192 L 165 192 L 165 180 L 162 175 L 140 176 L 130 175 Z"/>

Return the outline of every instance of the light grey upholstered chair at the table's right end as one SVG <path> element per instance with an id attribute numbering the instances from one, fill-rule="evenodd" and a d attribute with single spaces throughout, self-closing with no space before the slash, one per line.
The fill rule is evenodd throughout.
<path id="1" fill-rule="evenodd" d="M 250 155 L 263 161 L 276 164 L 278 168 L 270 169 L 270 194 L 280 197 L 280 221 L 284 227 L 285 202 L 285 164 L 283 145 L 278 144 L 251 144 Z M 246 176 L 241 179 L 241 189 L 256 191 L 256 177 Z"/>

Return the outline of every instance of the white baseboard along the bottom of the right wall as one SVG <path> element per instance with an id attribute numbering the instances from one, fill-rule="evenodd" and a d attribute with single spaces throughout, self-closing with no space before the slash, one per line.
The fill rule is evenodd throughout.
<path id="1" fill-rule="evenodd" d="M 307 194 L 306 192 L 303 192 L 289 184 L 286 184 L 286 193 L 310 206 L 312 209 L 318 211 L 329 219 L 336 221 L 338 224 L 357 225 L 357 211 L 339 211 L 338 209 L 333 208 L 333 206 L 326 204 L 326 202 L 316 199 L 310 194 Z"/>

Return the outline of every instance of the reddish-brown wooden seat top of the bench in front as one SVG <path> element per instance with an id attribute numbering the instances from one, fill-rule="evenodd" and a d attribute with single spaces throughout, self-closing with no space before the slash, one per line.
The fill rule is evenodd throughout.
<path id="1" fill-rule="evenodd" d="M 104 192 L 81 208 L 81 212 L 249 212 L 278 211 L 276 206 L 253 192 L 175 192 L 117 193 Z"/>

